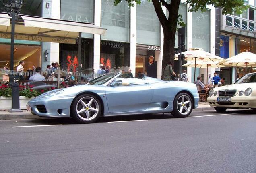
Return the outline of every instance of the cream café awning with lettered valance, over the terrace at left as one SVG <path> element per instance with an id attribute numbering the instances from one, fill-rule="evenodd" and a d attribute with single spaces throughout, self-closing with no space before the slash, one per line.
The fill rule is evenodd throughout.
<path id="1" fill-rule="evenodd" d="M 6 14 L 8 16 L 8 14 Z M 15 22 L 15 39 L 76 44 L 79 32 L 104 35 L 106 29 L 82 22 L 19 15 L 22 21 Z M 8 19 L 4 23 L 4 19 Z M 10 38 L 10 17 L 0 16 L 0 38 Z M 2 25 L 6 24 L 6 25 Z"/>

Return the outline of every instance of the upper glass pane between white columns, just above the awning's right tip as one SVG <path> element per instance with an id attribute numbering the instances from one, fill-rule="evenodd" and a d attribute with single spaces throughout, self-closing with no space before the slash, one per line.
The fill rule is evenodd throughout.
<path id="1" fill-rule="evenodd" d="M 101 27 L 107 28 L 103 40 L 129 42 L 130 7 L 126 1 L 114 6 L 114 0 L 101 0 Z"/>

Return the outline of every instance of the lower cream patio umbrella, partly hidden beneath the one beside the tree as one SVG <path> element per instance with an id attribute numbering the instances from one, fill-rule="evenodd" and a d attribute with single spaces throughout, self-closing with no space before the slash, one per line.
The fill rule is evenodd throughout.
<path id="1" fill-rule="evenodd" d="M 212 62 L 212 61 L 196 61 L 195 62 L 188 62 L 186 64 L 184 64 L 183 66 L 185 67 L 195 67 L 195 68 L 206 68 L 206 73 L 208 74 L 208 68 L 209 67 L 214 67 L 214 68 L 219 68 L 219 67 L 223 67 L 222 65 L 218 65 L 218 61 Z M 208 77 L 206 78 L 206 84 L 208 84 Z"/>

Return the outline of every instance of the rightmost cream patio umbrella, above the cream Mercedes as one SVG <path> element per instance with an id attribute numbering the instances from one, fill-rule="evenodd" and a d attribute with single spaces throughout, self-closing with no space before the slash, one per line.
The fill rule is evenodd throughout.
<path id="1" fill-rule="evenodd" d="M 247 67 L 256 66 L 256 54 L 251 52 L 242 52 L 238 55 L 232 56 L 231 58 L 226 59 L 226 61 L 219 62 L 219 65 L 228 65 L 232 67 Z"/>

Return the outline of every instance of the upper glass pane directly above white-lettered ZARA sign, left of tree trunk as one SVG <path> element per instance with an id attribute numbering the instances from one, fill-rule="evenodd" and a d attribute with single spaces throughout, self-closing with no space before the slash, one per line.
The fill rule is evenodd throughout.
<path id="1" fill-rule="evenodd" d="M 160 46 L 160 22 L 148 0 L 136 6 L 136 43 Z"/>

